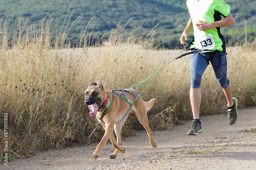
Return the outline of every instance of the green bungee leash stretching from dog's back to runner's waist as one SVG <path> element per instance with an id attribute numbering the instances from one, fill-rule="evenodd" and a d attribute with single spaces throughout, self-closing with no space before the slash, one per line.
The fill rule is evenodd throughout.
<path id="1" fill-rule="evenodd" d="M 151 76 L 153 76 L 154 74 L 156 74 L 156 72 L 158 72 L 160 69 L 162 69 L 163 67 L 165 67 L 165 66 L 168 65 L 169 63 L 171 63 L 171 62 L 173 62 L 173 61 L 175 61 L 175 60 L 177 60 L 177 59 L 179 59 L 179 58 L 182 58 L 182 57 L 184 57 L 184 56 L 186 56 L 186 55 L 194 54 L 194 53 L 197 53 L 197 52 L 206 52 L 206 51 L 211 52 L 211 51 L 214 51 L 214 50 L 200 50 L 200 49 L 197 49 L 197 48 L 189 48 L 189 49 L 184 49 L 184 50 L 182 50 L 181 52 L 183 52 L 183 51 L 188 51 L 188 50 L 191 50 L 191 52 L 188 52 L 188 53 L 185 53 L 185 54 L 180 55 L 179 57 L 176 57 L 176 58 L 173 59 L 172 61 L 168 62 L 167 64 L 165 64 L 164 66 L 162 66 L 161 68 L 159 68 L 158 70 L 156 70 L 152 75 L 150 75 L 148 78 L 146 78 L 145 80 L 143 80 L 142 82 L 140 82 L 137 86 L 135 86 L 135 87 L 132 87 L 132 86 L 131 86 L 130 88 L 137 89 L 140 85 L 141 85 L 141 86 L 144 86 L 144 82 L 145 82 L 147 79 L 149 79 Z M 181 53 L 181 52 L 180 52 L 180 53 Z"/>

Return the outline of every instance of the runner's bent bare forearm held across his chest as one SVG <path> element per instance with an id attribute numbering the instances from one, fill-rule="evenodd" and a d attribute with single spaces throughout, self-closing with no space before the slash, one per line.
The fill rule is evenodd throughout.
<path id="1" fill-rule="evenodd" d="M 209 30 L 211 28 L 227 27 L 227 26 L 231 26 L 233 24 L 234 24 L 234 18 L 231 15 L 231 13 L 229 13 L 227 15 L 227 17 L 225 17 L 221 20 L 218 20 L 218 21 L 215 21 L 215 22 L 212 22 L 212 23 L 208 23 L 208 22 L 200 20 L 195 25 L 197 26 L 197 28 L 200 31 L 205 31 L 205 30 Z"/>

